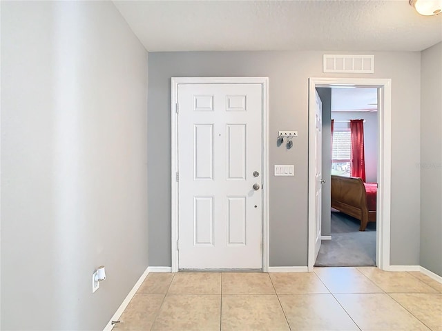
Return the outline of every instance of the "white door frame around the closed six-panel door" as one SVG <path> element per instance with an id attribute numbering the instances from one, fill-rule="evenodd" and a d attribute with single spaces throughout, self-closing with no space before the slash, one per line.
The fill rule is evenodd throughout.
<path id="1" fill-rule="evenodd" d="M 171 186 L 172 272 L 178 272 L 178 84 L 261 84 L 262 86 L 262 271 L 269 270 L 269 78 L 268 77 L 172 77 L 171 79 Z"/>

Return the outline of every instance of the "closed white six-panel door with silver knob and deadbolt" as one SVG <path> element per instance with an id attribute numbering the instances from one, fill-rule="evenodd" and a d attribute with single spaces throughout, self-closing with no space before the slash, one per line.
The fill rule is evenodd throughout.
<path id="1" fill-rule="evenodd" d="M 178 266 L 261 269 L 262 85 L 177 94 Z"/>

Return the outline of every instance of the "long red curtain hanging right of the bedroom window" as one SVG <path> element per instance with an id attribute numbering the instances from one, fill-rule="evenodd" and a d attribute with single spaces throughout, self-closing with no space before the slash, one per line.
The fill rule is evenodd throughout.
<path id="1" fill-rule="evenodd" d="M 352 177 L 360 177 L 365 182 L 363 119 L 352 119 L 350 121 L 350 137 L 352 139 L 352 151 L 350 154 Z"/>

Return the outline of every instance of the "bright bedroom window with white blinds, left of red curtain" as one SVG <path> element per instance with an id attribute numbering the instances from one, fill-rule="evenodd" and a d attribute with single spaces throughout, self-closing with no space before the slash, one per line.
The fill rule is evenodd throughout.
<path id="1" fill-rule="evenodd" d="M 350 129 L 335 129 L 332 146 L 332 174 L 350 177 Z"/>

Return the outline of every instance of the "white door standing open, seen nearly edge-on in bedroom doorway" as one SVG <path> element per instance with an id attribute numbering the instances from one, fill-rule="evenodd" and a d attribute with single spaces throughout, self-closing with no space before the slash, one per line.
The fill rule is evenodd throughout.
<path id="1" fill-rule="evenodd" d="M 322 154 L 323 154 L 323 103 L 320 101 L 318 92 L 315 90 L 315 261 L 318 257 L 321 243 L 321 215 L 322 215 Z"/>

